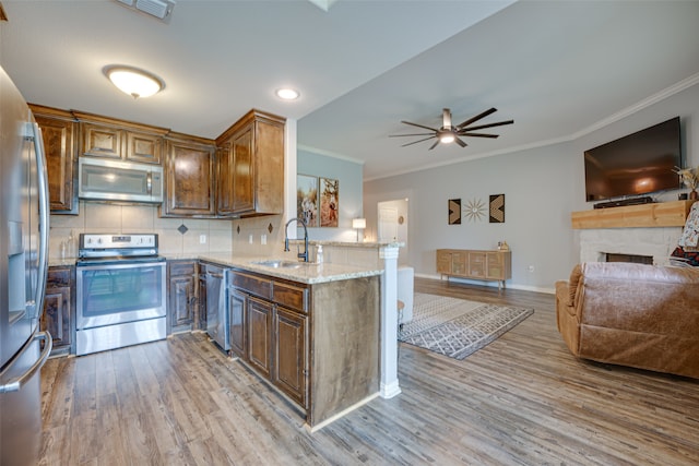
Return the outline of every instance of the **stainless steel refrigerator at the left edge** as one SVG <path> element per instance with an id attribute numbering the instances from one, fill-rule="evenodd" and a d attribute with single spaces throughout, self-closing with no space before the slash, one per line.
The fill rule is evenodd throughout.
<path id="1" fill-rule="evenodd" d="M 38 331 L 48 267 L 48 183 L 42 134 L 0 68 L 0 465 L 35 465 L 42 440 Z"/>

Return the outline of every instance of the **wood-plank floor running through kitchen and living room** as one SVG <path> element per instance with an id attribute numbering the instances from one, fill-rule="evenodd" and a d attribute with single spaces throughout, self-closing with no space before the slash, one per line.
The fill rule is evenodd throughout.
<path id="1" fill-rule="evenodd" d="M 576 359 L 552 295 L 420 278 L 415 290 L 536 311 L 463 361 L 402 345 L 403 393 L 313 434 L 202 333 L 51 359 L 42 464 L 699 464 L 699 381 Z"/>

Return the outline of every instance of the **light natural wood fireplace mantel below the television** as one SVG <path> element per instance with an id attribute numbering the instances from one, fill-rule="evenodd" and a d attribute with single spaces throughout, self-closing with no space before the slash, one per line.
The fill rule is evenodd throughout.
<path id="1" fill-rule="evenodd" d="M 672 201 L 573 212 L 573 229 L 684 227 L 696 201 Z"/>

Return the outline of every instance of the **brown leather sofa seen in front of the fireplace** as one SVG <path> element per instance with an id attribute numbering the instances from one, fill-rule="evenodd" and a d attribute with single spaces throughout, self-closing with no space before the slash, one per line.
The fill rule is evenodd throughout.
<path id="1" fill-rule="evenodd" d="M 699 379 L 699 268 L 578 264 L 556 316 L 579 358 Z"/>

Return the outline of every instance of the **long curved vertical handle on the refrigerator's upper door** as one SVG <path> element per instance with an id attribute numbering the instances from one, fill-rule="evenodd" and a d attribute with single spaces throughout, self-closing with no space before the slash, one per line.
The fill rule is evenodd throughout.
<path id="1" fill-rule="evenodd" d="M 34 154 L 36 156 L 36 172 L 38 178 L 39 193 L 39 270 L 36 287 L 36 297 L 34 299 L 34 313 L 40 319 L 44 312 L 44 298 L 46 295 L 46 278 L 48 275 L 48 230 L 49 230 L 49 200 L 48 200 L 48 178 L 46 175 L 46 157 L 44 152 L 44 138 L 42 129 L 35 122 L 32 124 L 32 140 L 34 142 Z"/>

